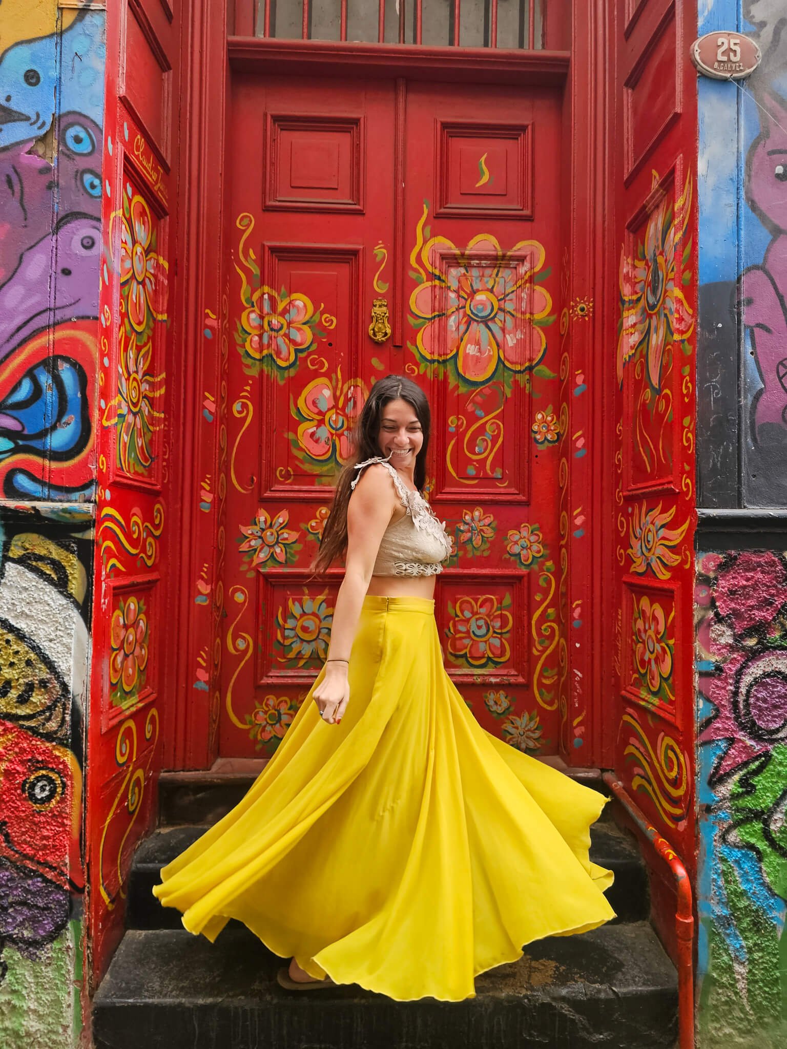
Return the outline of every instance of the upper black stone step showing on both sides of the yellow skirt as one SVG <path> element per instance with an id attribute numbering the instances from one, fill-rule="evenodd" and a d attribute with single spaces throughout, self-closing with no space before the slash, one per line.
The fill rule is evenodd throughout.
<path id="1" fill-rule="evenodd" d="M 180 915 L 163 907 L 151 890 L 163 866 L 196 841 L 205 826 L 162 828 L 136 850 L 128 882 L 126 924 L 129 928 L 179 928 Z M 612 821 L 599 821 L 591 831 L 591 856 L 615 872 L 615 884 L 607 894 L 618 921 L 639 921 L 648 915 L 647 877 L 639 850 L 625 832 Z"/>

